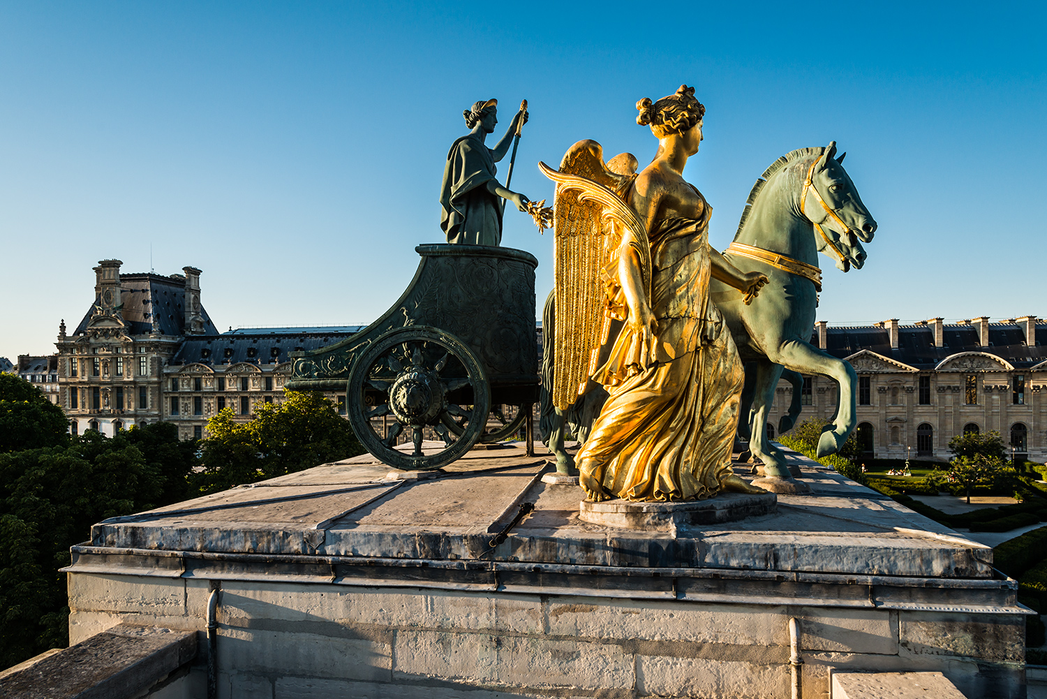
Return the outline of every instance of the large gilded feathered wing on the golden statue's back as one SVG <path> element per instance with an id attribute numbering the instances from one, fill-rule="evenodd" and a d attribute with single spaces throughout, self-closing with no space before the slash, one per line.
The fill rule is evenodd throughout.
<path id="1" fill-rule="evenodd" d="M 538 167 L 556 182 L 554 258 L 556 345 L 553 405 L 566 410 L 585 391 L 607 341 L 610 316 L 601 272 L 612 263 L 623 236 L 640 250 L 645 291 L 650 297 L 647 231 L 625 195 L 636 179 L 636 157 L 623 153 L 603 162 L 595 140 L 581 140 L 563 156 L 559 170 Z"/>

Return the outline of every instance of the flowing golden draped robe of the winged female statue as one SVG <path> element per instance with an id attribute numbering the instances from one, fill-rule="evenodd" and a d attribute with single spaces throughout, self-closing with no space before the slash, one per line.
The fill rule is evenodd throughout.
<path id="1" fill-rule="evenodd" d="M 649 235 L 656 362 L 626 326 L 595 376 L 610 397 L 577 456 L 593 499 L 705 499 L 732 473 L 744 373 L 709 302 L 708 235 L 708 204 L 700 219 L 664 219 Z"/>

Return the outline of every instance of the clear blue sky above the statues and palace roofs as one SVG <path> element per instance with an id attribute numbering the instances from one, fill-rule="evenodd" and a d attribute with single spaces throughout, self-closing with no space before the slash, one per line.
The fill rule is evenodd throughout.
<path id="1" fill-rule="evenodd" d="M 1043 3 L 0 2 L 0 356 L 53 351 L 91 267 L 203 269 L 220 328 L 367 323 L 439 242 L 462 110 L 527 97 L 513 189 L 581 138 L 653 154 L 634 103 L 694 85 L 685 175 L 731 240 L 755 178 L 839 141 L 879 223 L 819 318 L 1025 313 L 1042 290 Z M 503 163 L 505 173 L 507 162 Z M 552 240 L 507 214 L 504 244 Z"/>

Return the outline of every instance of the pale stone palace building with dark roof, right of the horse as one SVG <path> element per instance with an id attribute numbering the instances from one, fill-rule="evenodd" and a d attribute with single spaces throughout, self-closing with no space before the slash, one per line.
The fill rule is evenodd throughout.
<path id="1" fill-rule="evenodd" d="M 941 318 L 901 325 L 830 327 L 811 344 L 857 373 L 857 435 L 872 458 L 948 460 L 949 441 L 995 430 L 1015 458 L 1047 461 L 1047 323 L 1025 315 L 992 323 Z M 767 420 L 774 436 L 794 388 L 780 381 Z M 804 377 L 800 420 L 832 418 L 836 381 Z"/>

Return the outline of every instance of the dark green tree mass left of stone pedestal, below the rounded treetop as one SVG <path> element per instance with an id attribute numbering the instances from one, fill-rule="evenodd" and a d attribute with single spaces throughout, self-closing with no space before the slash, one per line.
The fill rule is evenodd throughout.
<path id="1" fill-rule="evenodd" d="M 0 665 L 68 643 L 69 547 L 96 522 L 184 499 L 196 464 L 165 423 L 0 454 Z"/>

